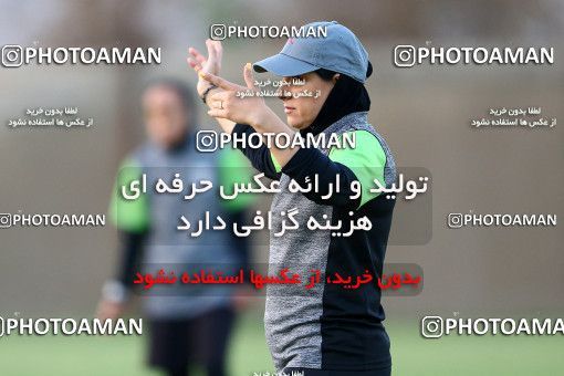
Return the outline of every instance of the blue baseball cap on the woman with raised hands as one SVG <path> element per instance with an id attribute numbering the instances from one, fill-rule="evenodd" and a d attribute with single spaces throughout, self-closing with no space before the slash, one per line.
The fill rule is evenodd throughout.
<path id="1" fill-rule="evenodd" d="M 324 28 L 314 36 L 291 38 L 282 51 L 253 64 L 255 72 L 272 72 L 279 76 L 296 76 L 320 67 L 342 73 L 365 83 L 368 53 L 356 35 L 337 21 L 320 21 L 303 27 L 307 30 Z M 311 33 L 314 34 L 314 33 Z"/>

